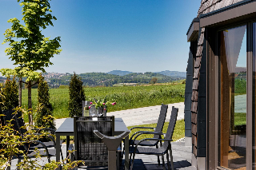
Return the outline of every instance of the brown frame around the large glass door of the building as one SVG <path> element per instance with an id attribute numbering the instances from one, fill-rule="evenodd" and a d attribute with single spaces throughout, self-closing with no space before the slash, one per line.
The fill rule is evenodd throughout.
<path id="1" fill-rule="evenodd" d="M 255 111 L 253 109 L 253 23 L 255 19 L 250 21 L 236 22 L 227 26 L 218 28 L 206 27 L 206 58 L 207 58 L 207 169 L 223 169 L 218 164 L 219 151 L 219 114 L 220 114 L 220 40 L 219 32 L 237 26 L 246 25 L 246 168 L 252 169 L 255 153 L 253 153 L 253 133 L 255 135 L 254 123 Z M 254 36 L 255 37 L 255 36 Z M 210 40 L 211 39 L 211 40 Z M 213 43 L 214 42 L 214 43 Z M 256 65 L 256 63 L 255 63 Z M 256 66 L 255 66 L 256 67 Z M 214 88 L 214 93 L 211 92 Z M 256 90 L 255 90 L 256 93 Z M 255 97 L 256 98 L 256 97 Z M 214 104 L 213 102 L 214 101 Z M 218 148 L 218 149 L 216 149 Z M 215 151 L 214 151 L 215 149 Z M 213 152 L 214 151 L 214 152 Z"/>

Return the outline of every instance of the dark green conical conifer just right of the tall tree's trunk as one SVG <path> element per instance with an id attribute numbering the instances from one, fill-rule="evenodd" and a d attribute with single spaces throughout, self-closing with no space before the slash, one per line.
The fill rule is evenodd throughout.
<path id="1" fill-rule="evenodd" d="M 49 86 L 44 81 L 44 77 L 40 76 L 38 80 L 38 112 L 36 114 L 36 125 L 46 128 L 55 128 L 54 118 L 45 122 L 43 117 L 53 116 L 53 106 L 50 104 Z"/>

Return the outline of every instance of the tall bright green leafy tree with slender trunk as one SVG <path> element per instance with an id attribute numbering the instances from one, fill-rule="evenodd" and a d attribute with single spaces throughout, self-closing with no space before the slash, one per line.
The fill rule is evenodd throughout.
<path id="1" fill-rule="evenodd" d="M 10 29 L 5 32 L 3 44 L 9 43 L 6 48 L 6 55 L 17 65 L 14 69 L 1 69 L 3 75 L 16 75 L 17 77 L 27 77 L 28 85 L 28 109 L 32 109 L 31 87 L 32 81 L 38 79 L 39 73 L 46 72 L 44 69 L 49 65 L 50 58 L 54 54 L 62 51 L 60 48 L 60 37 L 46 38 L 42 35 L 42 29 L 46 26 L 54 26 L 52 20 L 57 20 L 50 14 L 49 0 L 23 0 L 22 20 L 24 25 L 17 18 L 11 18 L 8 22 L 12 23 Z M 18 41 L 20 40 L 20 41 Z M 32 115 L 30 115 L 30 125 L 32 124 Z"/>

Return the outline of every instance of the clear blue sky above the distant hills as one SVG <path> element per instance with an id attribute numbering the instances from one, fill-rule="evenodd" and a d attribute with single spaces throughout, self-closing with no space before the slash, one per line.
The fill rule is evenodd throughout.
<path id="1" fill-rule="evenodd" d="M 186 31 L 201 0 L 53 0 L 58 20 L 43 30 L 61 37 L 62 53 L 46 72 L 90 73 L 126 70 L 145 73 L 186 71 Z M 22 19 L 17 0 L 0 2 L 0 42 L 7 20 Z M 14 68 L 0 45 L 0 68 Z"/>

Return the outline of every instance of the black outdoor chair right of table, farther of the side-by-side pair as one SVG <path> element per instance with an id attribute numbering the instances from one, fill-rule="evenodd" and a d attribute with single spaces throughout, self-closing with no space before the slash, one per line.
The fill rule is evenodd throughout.
<path id="1" fill-rule="evenodd" d="M 163 125 L 166 121 L 166 113 L 167 113 L 167 109 L 168 109 L 168 105 L 161 105 L 161 109 L 160 109 L 160 114 L 158 117 L 158 123 L 157 126 L 155 128 L 153 127 L 134 127 L 134 128 L 130 128 L 130 131 L 132 132 L 132 130 L 134 129 L 138 129 L 138 128 L 144 128 L 144 129 L 153 129 L 154 132 L 162 132 L 162 128 Z M 136 144 L 138 144 L 140 142 L 140 140 L 136 140 L 138 138 L 138 136 L 144 134 L 144 132 L 153 132 L 153 131 L 138 131 L 138 132 L 134 132 L 134 134 L 132 136 L 130 136 L 130 145 L 134 146 Z M 158 135 L 157 133 L 154 134 L 153 138 L 161 138 L 160 135 Z M 142 142 L 140 142 L 138 145 L 141 146 L 155 146 L 156 148 L 158 148 L 158 143 L 159 140 L 144 140 Z M 123 153 L 122 153 L 123 155 Z M 160 164 L 160 160 L 159 160 L 159 156 L 158 156 L 158 164 Z"/>

